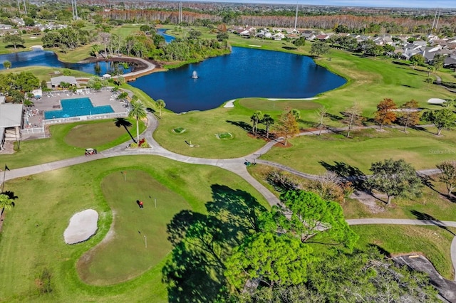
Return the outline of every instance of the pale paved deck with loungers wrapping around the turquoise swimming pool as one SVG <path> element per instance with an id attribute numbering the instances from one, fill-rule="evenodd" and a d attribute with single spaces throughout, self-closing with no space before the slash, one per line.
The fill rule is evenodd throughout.
<path id="1" fill-rule="evenodd" d="M 61 110 L 60 100 L 78 99 L 83 97 L 90 98 L 90 101 L 95 107 L 110 105 L 116 113 L 124 113 L 126 111 L 125 103 L 116 100 L 114 93 L 110 90 L 90 92 L 85 93 L 84 95 L 58 91 L 46 92 L 43 93 L 41 99 L 33 100 L 34 105 L 31 107 L 31 115 L 28 117 L 29 127 L 41 127 L 44 119 L 43 112 Z"/>

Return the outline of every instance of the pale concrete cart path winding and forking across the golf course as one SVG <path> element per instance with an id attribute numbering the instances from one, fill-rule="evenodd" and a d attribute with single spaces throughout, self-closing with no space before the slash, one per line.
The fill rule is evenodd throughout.
<path id="1" fill-rule="evenodd" d="M 94 156 L 78 156 L 76 158 L 64 159 L 64 160 L 60 160 L 60 161 L 54 161 L 51 163 L 39 164 L 36 166 L 28 166 L 28 167 L 24 167 L 21 169 L 12 169 L 11 171 L 8 172 L 8 174 L 6 174 L 5 180 L 16 179 L 16 178 L 28 176 L 31 174 L 39 174 L 39 173 L 42 173 L 45 171 L 61 169 L 63 167 L 73 166 L 76 164 L 82 164 L 82 163 L 86 163 L 89 161 L 95 161 L 98 159 L 105 159 L 105 158 L 110 158 L 110 157 L 115 157 L 115 156 L 150 154 L 150 155 L 156 155 L 156 156 L 164 156 L 165 158 L 172 159 L 175 161 L 185 162 L 188 164 L 212 165 L 212 166 L 220 167 L 222 169 L 227 169 L 228 171 L 232 171 L 234 174 L 241 176 L 245 181 L 247 181 L 254 188 L 256 188 L 257 191 L 259 191 L 259 193 L 261 193 L 264 196 L 264 198 L 266 198 L 266 201 L 268 201 L 271 206 L 274 206 L 274 205 L 280 203 L 279 198 L 274 196 L 274 194 L 271 193 L 271 191 L 269 191 L 265 186 L 260 184 L 259 181 L 254 179 L 254 177 L 252 177 L 249 174 L 249 172 L 247 171 L 247 167 L 244 164 L 246 159 L 247 159 L 247 161 L 275 166 L 280 169 L 289 171 L 292 174 L 296 174 L 298 176 L 303 176 L 304 178 L 307 178 L 307 179 L 318 179 L 319 178 L 319 176 L 305 174 L 300 171 L 291 169 L 288 166 L 276 164 L 275 162 L 272 162 L 272 161 L 257 159 L 259 156 L 261 156 L 262 154 L 265 154 L 267 151 L 269 151 L 269 149 L 271 149 L 274 146 L 274 144 L 276 144 L 277 142 L 280 142 L 281 138 L 266 143 L 264 145 L 264 147 L 261 147 L 261 149 L 255 151 L 254 153 L 249 154 L 247 156 L 243 156 L 243 157 L 239 157 L 239 158 L 235 158 L 235 159 L 205 159 L 205 158 L 197 158 L 197 157 L 192 157 L 192 156 L 184 156 L 181 154 L 176 154 L 175 152 L 168 151 L 167 149 L 164 149 L 163 147 L 161 147 L 160 144 L 158 144 L 155 141 L 155 139 L 152 137 L 152 134 L 155 131 L 155 129 L 157 128 L 157 126 L 158 126 L 158 121 L 155 118 L 155 116 L 153 116 L 151 114 L 147 115 L 147 129 L 145 130 L 145 132 L 142 133 L 142 137 L 145 137 L 145 139 L 147 139 L 147 142 L 150 144 L 150 147 L 151 147 L 150 149 L 128 149 L 128 148 L 126 148 L 125 144 L 129 144 L 130 142 L 133 142 L 132 140 L 130 140 L 130 142 L 125 142 L 116 147 L 107 149 L 105 151 L 101 151 L 99 154 L 94 155 Z M 309 133 L 305 133 L 305 134 L 312 134 L 312 133 L 309 132 Z M 304 135 L 304 133 L 303 133 L 303 135 Z M 435 174 L 436 172 L 438 172 L 438 171 L 436 171 L 435 169 L 428 169 L 425 171 L 420 171 L 421 174 Z M 402 225 L 435 225 L 435 226 L 439 226 L 441 228 L 447 228 L 447 227 L 456 228 L 456 222 L 454 222 L 454 221 L 437 221 L 437 220 L 368 218 L 368 219 L 351 219 L 351 220 L 347 220 L 347 222 L 349 225 L 402 224 Z M 456 237 L 455 237 L 455 239 L 453 239 L 452 245 L 451 245 L 451 258 L 452 258 L 453 267 L 455 267 L 455 272 L 456 272 Z M 456 275 L 455 275 L 455 280 L 456 280 Z"/>

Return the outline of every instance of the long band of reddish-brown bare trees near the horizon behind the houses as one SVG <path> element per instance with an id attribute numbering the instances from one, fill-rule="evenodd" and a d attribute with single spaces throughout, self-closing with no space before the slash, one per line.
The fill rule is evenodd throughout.
<path id="1" fill-rule="evenodd" d="M 111 10 L 100 12 L 105 18 L 123 22 L 160 22 L 179 23 L 178 11 L 157 9 Z M 294 16 L 252 16 L 239 13 L 202 14 L 195 11 L 182 11 L 182 23 L 205 25 L 204 23 L 225 23 L 229 25 L 249 25 L 259 27 L 294 27 Z M 351 14 L 299 16 L 298 28 L 321 28 L 333 30 L 337 26 L 346 26 L 349 31 L 370 33 L 427 33 L 432 26 L 432 19 L 413 18 L 410 16 L 355 16 Z M 440 31 L 456 33 L 456 16 L 440 18 Z"/>

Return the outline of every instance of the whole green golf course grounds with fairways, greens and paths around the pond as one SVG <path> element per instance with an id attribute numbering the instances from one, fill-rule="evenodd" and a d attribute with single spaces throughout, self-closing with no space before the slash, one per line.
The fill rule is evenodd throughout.
<path id="1" fill-rule="evenodd" d="M 229 42 L 248 47 L 252 41 L 230 36 Z M 310 43 L 293 49 L 284 43 L 255 41 L 263 49 L 309 55 Z M 364 176 L 383 159 L 405 159 L 417 171 L 455 159 L 452 129 L 437 136 L 434 126 L 420 122 L 422 127 L 406 132 L 400 124 L 380 131 L 373 120 L 386 97 L 398 105 L 416 100 L 423 111 L 442 108 L 427 104 L 431 97 L 454 100 L 455 92 L 425 81 L 425 68 L 343 50 L 331 50 L 331 60 L 328 55 L 314 60 L 346 78 L 346 85 L 307 100 L 239 98 L 234 107 L 181 115 L 163 109 L 159 115 L 150 96 L 125 83 L 120 89 L 134 92 L 152 109 L 138 129 L 133 118 L 125 128 L 112 119 L 52 125 L 50 137 L 26 140 L 20 149 L 15 145 L 14 153 L 0 154 L 1 164 L 9 167 L 1 172 L 4 192 L 14 197 L 14 208 L 4 211 L 0 223 L 0 302 L 214 299 L 225 286 L 223 268 L 214 264 L 252 235 L 261 213 L 279 201 L 281 192 L 267 179 L 274 168 L 266 162 L 284 167 L 284 174 L 297 180 L 287 168 L 315 177 L 341 168 L 356 171 L 348 176 Z M 456 82 L 452 70 L 431 76 Z M 41 77 L 46 79 L 46 73 Z M 346 137 L 342 112 L 354 103 L 366 119 Z M 316 111 L 322 106 L 328 115 L 318 135 Z M 260 134 L 253 134 L 254 112 L 277 121 L 290 108 L 299 110 L 299 136 L 288 145 L 274 127 L 271 137 L 262 124 Z M 125 148 L 137 130 L 150 148 Z M 83 156 L 87 147 L 99 153 Z M 450 251 L 456 228 L 433 223 L 456 221 L 456 203 L 437 175 L 425 181 L 422 196 L 395 197 L 390 206 L 382 196 L 366 202 L 352 195 L 340 202 L 343 215 L 430 222 L 353 226 L 360 237 L 356 248 L 424 255 L 440 275 L 455 280 Z M 66 244 L 63 231 L 70 218 L 89 208 L 99 216 L 95 235 Z M 321 255 L 329 249 L 309 245 Z"/>

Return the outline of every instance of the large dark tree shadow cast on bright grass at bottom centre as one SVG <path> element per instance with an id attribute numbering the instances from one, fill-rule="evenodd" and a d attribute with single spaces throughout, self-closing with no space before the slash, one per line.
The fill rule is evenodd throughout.
<path id="1" fill-rule="evenodd" d="M 214 302 L 227 283 L 224 261 L 259 230 L 266 209 L 249 193 L 214 184 L 207 214 L 177 213 L 167 225 L 171 257 L 162 268 L 170 302 Z"/>

